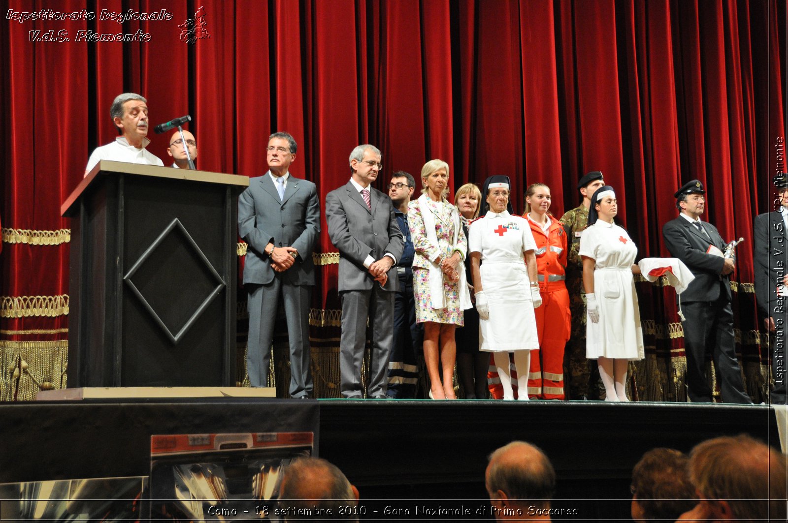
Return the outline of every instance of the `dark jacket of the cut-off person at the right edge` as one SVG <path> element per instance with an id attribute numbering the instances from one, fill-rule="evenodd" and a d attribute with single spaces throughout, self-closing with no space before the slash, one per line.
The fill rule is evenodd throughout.
<path id="1" fill-rule="evenodd" d="M 763 213 L 753 224 L 755 295 L 761 317 L 785 317 L 788 299 L 777 300 L 777 285 L 788 270 L 788 232 L 779 212 Z M 775 310 L 776 309 L 776 310 Z"/>

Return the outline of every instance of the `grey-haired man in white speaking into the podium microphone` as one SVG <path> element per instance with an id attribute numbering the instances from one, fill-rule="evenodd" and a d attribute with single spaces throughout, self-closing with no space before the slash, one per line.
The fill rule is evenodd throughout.
<path id="1" fill-rule="evenodd" d="M 163 161 L 145 149 L 147 144 L 151 143 L 151 140 L 146 138 L 148 117 L 145 98 L 136 93 L 117 95 L 110 107 L 110 117 L 120 136 L 112 143 L 95 148 L 91 158 L 87 160 L 84 176 L 101 160 L 164 166 Z"/>

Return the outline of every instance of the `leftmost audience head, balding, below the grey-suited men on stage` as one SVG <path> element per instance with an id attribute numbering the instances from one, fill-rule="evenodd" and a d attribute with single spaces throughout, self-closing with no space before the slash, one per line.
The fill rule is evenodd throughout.
<path id="1" fill-rule="evenodd" d="M 302 509 L 323 509 L 313 510 L 319 512 L 312 517 L 314 520 L 359 521 L 358 517 L 340 514 L 340 507 L 358 503 L 359 492 L 340 469 L 325 459 L 296 458 L 284 469 L 279 489 L 284 521 L 304 521 L 306 517 L 299 514 Z"/>

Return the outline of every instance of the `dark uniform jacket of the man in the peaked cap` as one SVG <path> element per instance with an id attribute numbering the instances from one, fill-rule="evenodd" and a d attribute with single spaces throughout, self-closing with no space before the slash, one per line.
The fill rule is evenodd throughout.
<path id="1" fill-rule="evenodd" d="M 719 279 L 725 265 L 724 258 L 706 254 L 712 244 L 723 250 L 725 242 L 714 225 L 703 221 L 701 226 L 708 232 L 711 241 L 680 216 L 668 221 L 662 228 L 662 236 L 671 256 L 683 261 L 695 275 L 686 291 L 682 292 L 682 302 L 714 302 L 720 296 L 730 301 L 730 280 L 728 276 Z"/>

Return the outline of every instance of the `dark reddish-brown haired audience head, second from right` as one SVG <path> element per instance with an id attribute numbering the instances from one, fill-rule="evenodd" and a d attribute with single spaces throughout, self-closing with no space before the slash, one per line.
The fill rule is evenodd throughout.
<path id="1" fill-rule="evenodd" d="M 655 448 L 632 469 L 632 519 L 675 521 L 697 504 L 689 482 L 689 457 L 671 448 Z"/>

